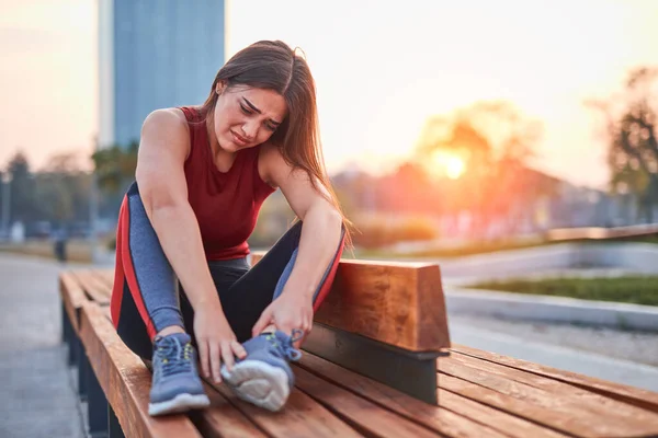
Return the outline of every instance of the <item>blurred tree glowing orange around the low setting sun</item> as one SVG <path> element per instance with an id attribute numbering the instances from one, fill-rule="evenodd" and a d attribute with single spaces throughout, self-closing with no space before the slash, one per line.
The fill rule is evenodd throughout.
<path id="1" fill-rule="evenodd" d="M 431 118 L 421 132 L 416 160 L 430 174 L 440 153 L 463 162 L 463 173 L 443 177 L 438 189 L 449 210 L 469 211 L 474 231 L 484 232 L 494 218 L 514 217 L 519 206 L 554 192 L 549 178 L 545 184 L 536 178 L 534 185 L 527 184 L 527 162 L 541 132 L 538 122 L 523 117 L 511 104 L 479 102 Z M 509 231 L 517 223 L 508 221 Z"/>

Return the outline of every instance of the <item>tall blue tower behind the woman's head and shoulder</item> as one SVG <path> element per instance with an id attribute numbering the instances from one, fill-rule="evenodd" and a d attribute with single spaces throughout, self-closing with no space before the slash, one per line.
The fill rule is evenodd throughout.
<path id="1" fill-rule="evenodd" d="M 101 148 L 157 108 L 203 103 L 225 62 L 224 0 L 99 0 Z"/>

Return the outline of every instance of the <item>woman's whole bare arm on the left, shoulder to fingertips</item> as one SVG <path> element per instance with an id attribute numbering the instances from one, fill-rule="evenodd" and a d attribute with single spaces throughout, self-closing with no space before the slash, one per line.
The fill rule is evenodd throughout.
<path id="1" fill-rule="evenodd" d="M 164 255 L 194 309 L 194 334 L 203 373 L 220 382 L 222 361 L 246 353 L 230 328 L 211 276 L 198 222 L 188 201 L 183 165 L 189 153 L 188 126 L 175 110 L 151 113 L 144 123 L 137 159 L 137 184 L 146 214 Z"/>

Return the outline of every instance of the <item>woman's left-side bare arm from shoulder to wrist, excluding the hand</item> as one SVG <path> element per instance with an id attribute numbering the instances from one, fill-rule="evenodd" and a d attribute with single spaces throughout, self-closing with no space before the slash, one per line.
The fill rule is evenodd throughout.
<path id="1" fill-rule="evenodd" d="M 190 151 L 186 123 L 175 110 L 151 113 L 141 128 L 137 185 L 162 250 L 196 310 L 219 307 L 198 222 L 188 201 L 183 164 Z"/>

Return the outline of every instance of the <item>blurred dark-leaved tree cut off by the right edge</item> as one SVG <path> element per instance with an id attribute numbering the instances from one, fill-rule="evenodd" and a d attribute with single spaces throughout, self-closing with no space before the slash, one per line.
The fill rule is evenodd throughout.
<path id="1" fill-rule="evenodd" d="M 621 94 L 586 103 L 605 119 L 611 191 L 634 194 L 651 222 L 658 205 L 658 68 L 632 70 L 624 85 Z"/>

